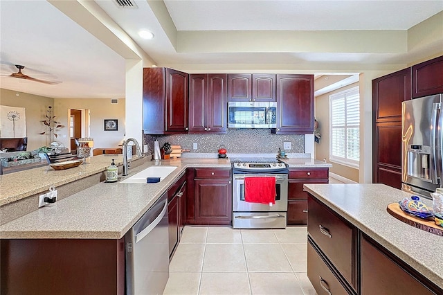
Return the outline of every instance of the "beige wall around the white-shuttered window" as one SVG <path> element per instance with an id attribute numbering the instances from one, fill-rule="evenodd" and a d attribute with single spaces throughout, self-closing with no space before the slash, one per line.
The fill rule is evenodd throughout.
<path id="1" fill-rule="evenodd" d="M 321 78 L 323 77 L 320 77 L 318 80 L 321 80 Z M 318 132 L 320 132 L 321 138 L 320 143 L 316 143 L 315 145 L 315 158 L 320 161 L 326 159 L 328 163 L 332 163 L 332 168 L 329 170 L 330 172 L 355 182 L 359 182 L 359 169 L 329 161 L 329 96 L 333 93 L 357 86 L 359 86 L 358 82 L 316 97 L 316 120 L 318 120 L 319 123 Z"/>

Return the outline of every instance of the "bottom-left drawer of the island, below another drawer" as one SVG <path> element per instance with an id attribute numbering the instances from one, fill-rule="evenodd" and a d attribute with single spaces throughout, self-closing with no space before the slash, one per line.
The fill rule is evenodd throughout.
<path id="1" fill-rule="evenodd" d="M 307 243 L 307 276 L 317 294 L 328 294 L 328 291 L 329 294 L 348 294 L 310 242 Z"/>

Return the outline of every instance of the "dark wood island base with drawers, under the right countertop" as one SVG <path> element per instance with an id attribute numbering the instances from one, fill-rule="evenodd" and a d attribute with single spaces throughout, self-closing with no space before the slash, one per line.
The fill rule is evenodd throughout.
<path id="1" fill-rule="evenodd" d="M 317 294 L 443 294 L 310 194 L 308 210 L 307 276 Z"/>

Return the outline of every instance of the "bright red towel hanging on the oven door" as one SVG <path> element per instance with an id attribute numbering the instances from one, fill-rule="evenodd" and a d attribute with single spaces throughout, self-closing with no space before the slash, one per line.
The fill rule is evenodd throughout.
<path id="1" fill-rule="evenodd" d="M 244 200 L 250 203 L 275 204 L 275 177 L 245 177 Z"/>

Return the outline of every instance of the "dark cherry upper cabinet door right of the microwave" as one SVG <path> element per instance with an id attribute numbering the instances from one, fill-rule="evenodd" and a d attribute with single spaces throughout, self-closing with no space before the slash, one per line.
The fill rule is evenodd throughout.
<path id="1" fill-rule="evenodd" d="M 314 132 L 314 75 L 277 75 L 275 133 Z"/>

